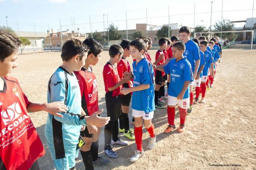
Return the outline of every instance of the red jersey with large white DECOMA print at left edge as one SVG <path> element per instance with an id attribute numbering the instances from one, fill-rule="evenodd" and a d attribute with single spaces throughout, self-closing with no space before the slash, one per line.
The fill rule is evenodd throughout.
<path id="1" fill-rule="evenodd" d="M 2 77 L 0 77 L 2 78 Z M 14 77 L 2 78 L 0 90 L 0 157 L 7 170 L 27 170 L 45 154 L 28 112 L 30 104 Z"/>

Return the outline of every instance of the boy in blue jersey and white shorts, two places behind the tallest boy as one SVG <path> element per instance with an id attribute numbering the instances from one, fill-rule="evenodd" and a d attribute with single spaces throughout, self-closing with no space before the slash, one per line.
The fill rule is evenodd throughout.
<path id="1" fill-rule="evenodd" d="M 202 74 L 202 82 L 201 82 L 201 89 L 202 89 L 202 100 L 201 103 L 205 102 L 205 92 L 206 92 L 206 82 L 208 79 L 208 70 L 210 68 L 210 74 L 214 76 L 214 70 L 213 70 L 213 59 L 212 59 L 212 53 L 206 50 L 208 46 L 208 42 L 206 40 L 203 40 L 200 42 L 200 50 L 204 53 L 204 57 L 206 60 L 206 64 L 203 69 Z"/>

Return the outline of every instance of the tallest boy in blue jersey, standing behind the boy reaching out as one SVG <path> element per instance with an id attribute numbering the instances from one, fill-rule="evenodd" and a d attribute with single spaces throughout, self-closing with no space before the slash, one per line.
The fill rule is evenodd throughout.
<path id="1" fill-rule="evenodd" d="M 184 51 L 184 57 L 189 61 L 191 64 L 193 77 L 196 78 L 196 74 L 200 65 L 200 53 L 198 45 L 194 41 L 190 39 L 190 28 L 183 26 L 179 30 L 180 33 L 180 39 L 182 39 L 182 42 L 185 44 L 186 49 Z M 194 81 L 190 82 L 190 107 L 188 108 L 188 113 L 192 113 L 193 109 L 193 98 L 194 93 L 192 92 L 194 86 Z"/>

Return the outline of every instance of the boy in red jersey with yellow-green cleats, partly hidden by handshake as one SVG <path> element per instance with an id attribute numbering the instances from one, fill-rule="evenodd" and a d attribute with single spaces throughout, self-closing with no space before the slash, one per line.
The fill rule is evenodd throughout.
<path id="1" fill-rule="evenodd" d="M 128 39 L 123 39 L 120 44 L 120 46 L 124 50 L 122 59 L 117 64 L 117 70 L 118 70 L 118 75 L 119 75 L 120 79 L 124 77 L 124 74 L 126 72 L 131 72 L 130 64 L 129 64 L 128 60 L 126 59 L 127 57 L 130 57 L 130 47 L 129 47 L 130 42 L 131 41 Z M 129 88 L 129 85 L 128 85 L 128 83 L 124 83 L 122 85 L 122 87 Z M 135 138 L 134 138 L 134 134 L 132 132 L 133 129 L 130 129 L 130 127 L 129 127 L 129 117 L 128 117 L 131 98 L 132 98 L 131 93 L 121 96 L 122 109 L 121 109 L 121 115 L 119 116 L 118 131 L 124 132 L 125 137 L 134 140 Z"/>

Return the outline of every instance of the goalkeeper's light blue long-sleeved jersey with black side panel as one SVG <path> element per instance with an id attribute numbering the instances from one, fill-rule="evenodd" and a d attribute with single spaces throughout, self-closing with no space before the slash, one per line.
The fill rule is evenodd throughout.
<path id="1" fill-rule="evenodd" d="M 48 103 L 61 101 L 68 113 L 58 117 L 48 113 L 44 133 L 52 159 L 60 159 L 76 152 L 81 125 L 86 125 L 81 115 L 81 94 L 74 73 L 59 67 L 48 82 Z"/>

